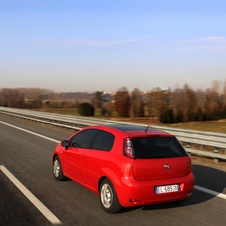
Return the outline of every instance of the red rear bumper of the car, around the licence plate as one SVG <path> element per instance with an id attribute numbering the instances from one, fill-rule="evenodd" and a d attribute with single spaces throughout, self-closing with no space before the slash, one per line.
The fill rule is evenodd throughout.
<path id="1" fill-rule="evenodd" d="M 155 194 L 156 186 L 180 184 L 178 192 Z M 133 177 L 121 178 L 120 186 L 116 185 L 119 202 L 124 207 L 172 202 L 191 197 L 194 189 L 194 176 L 164 180 L 136 181 Z"/>

